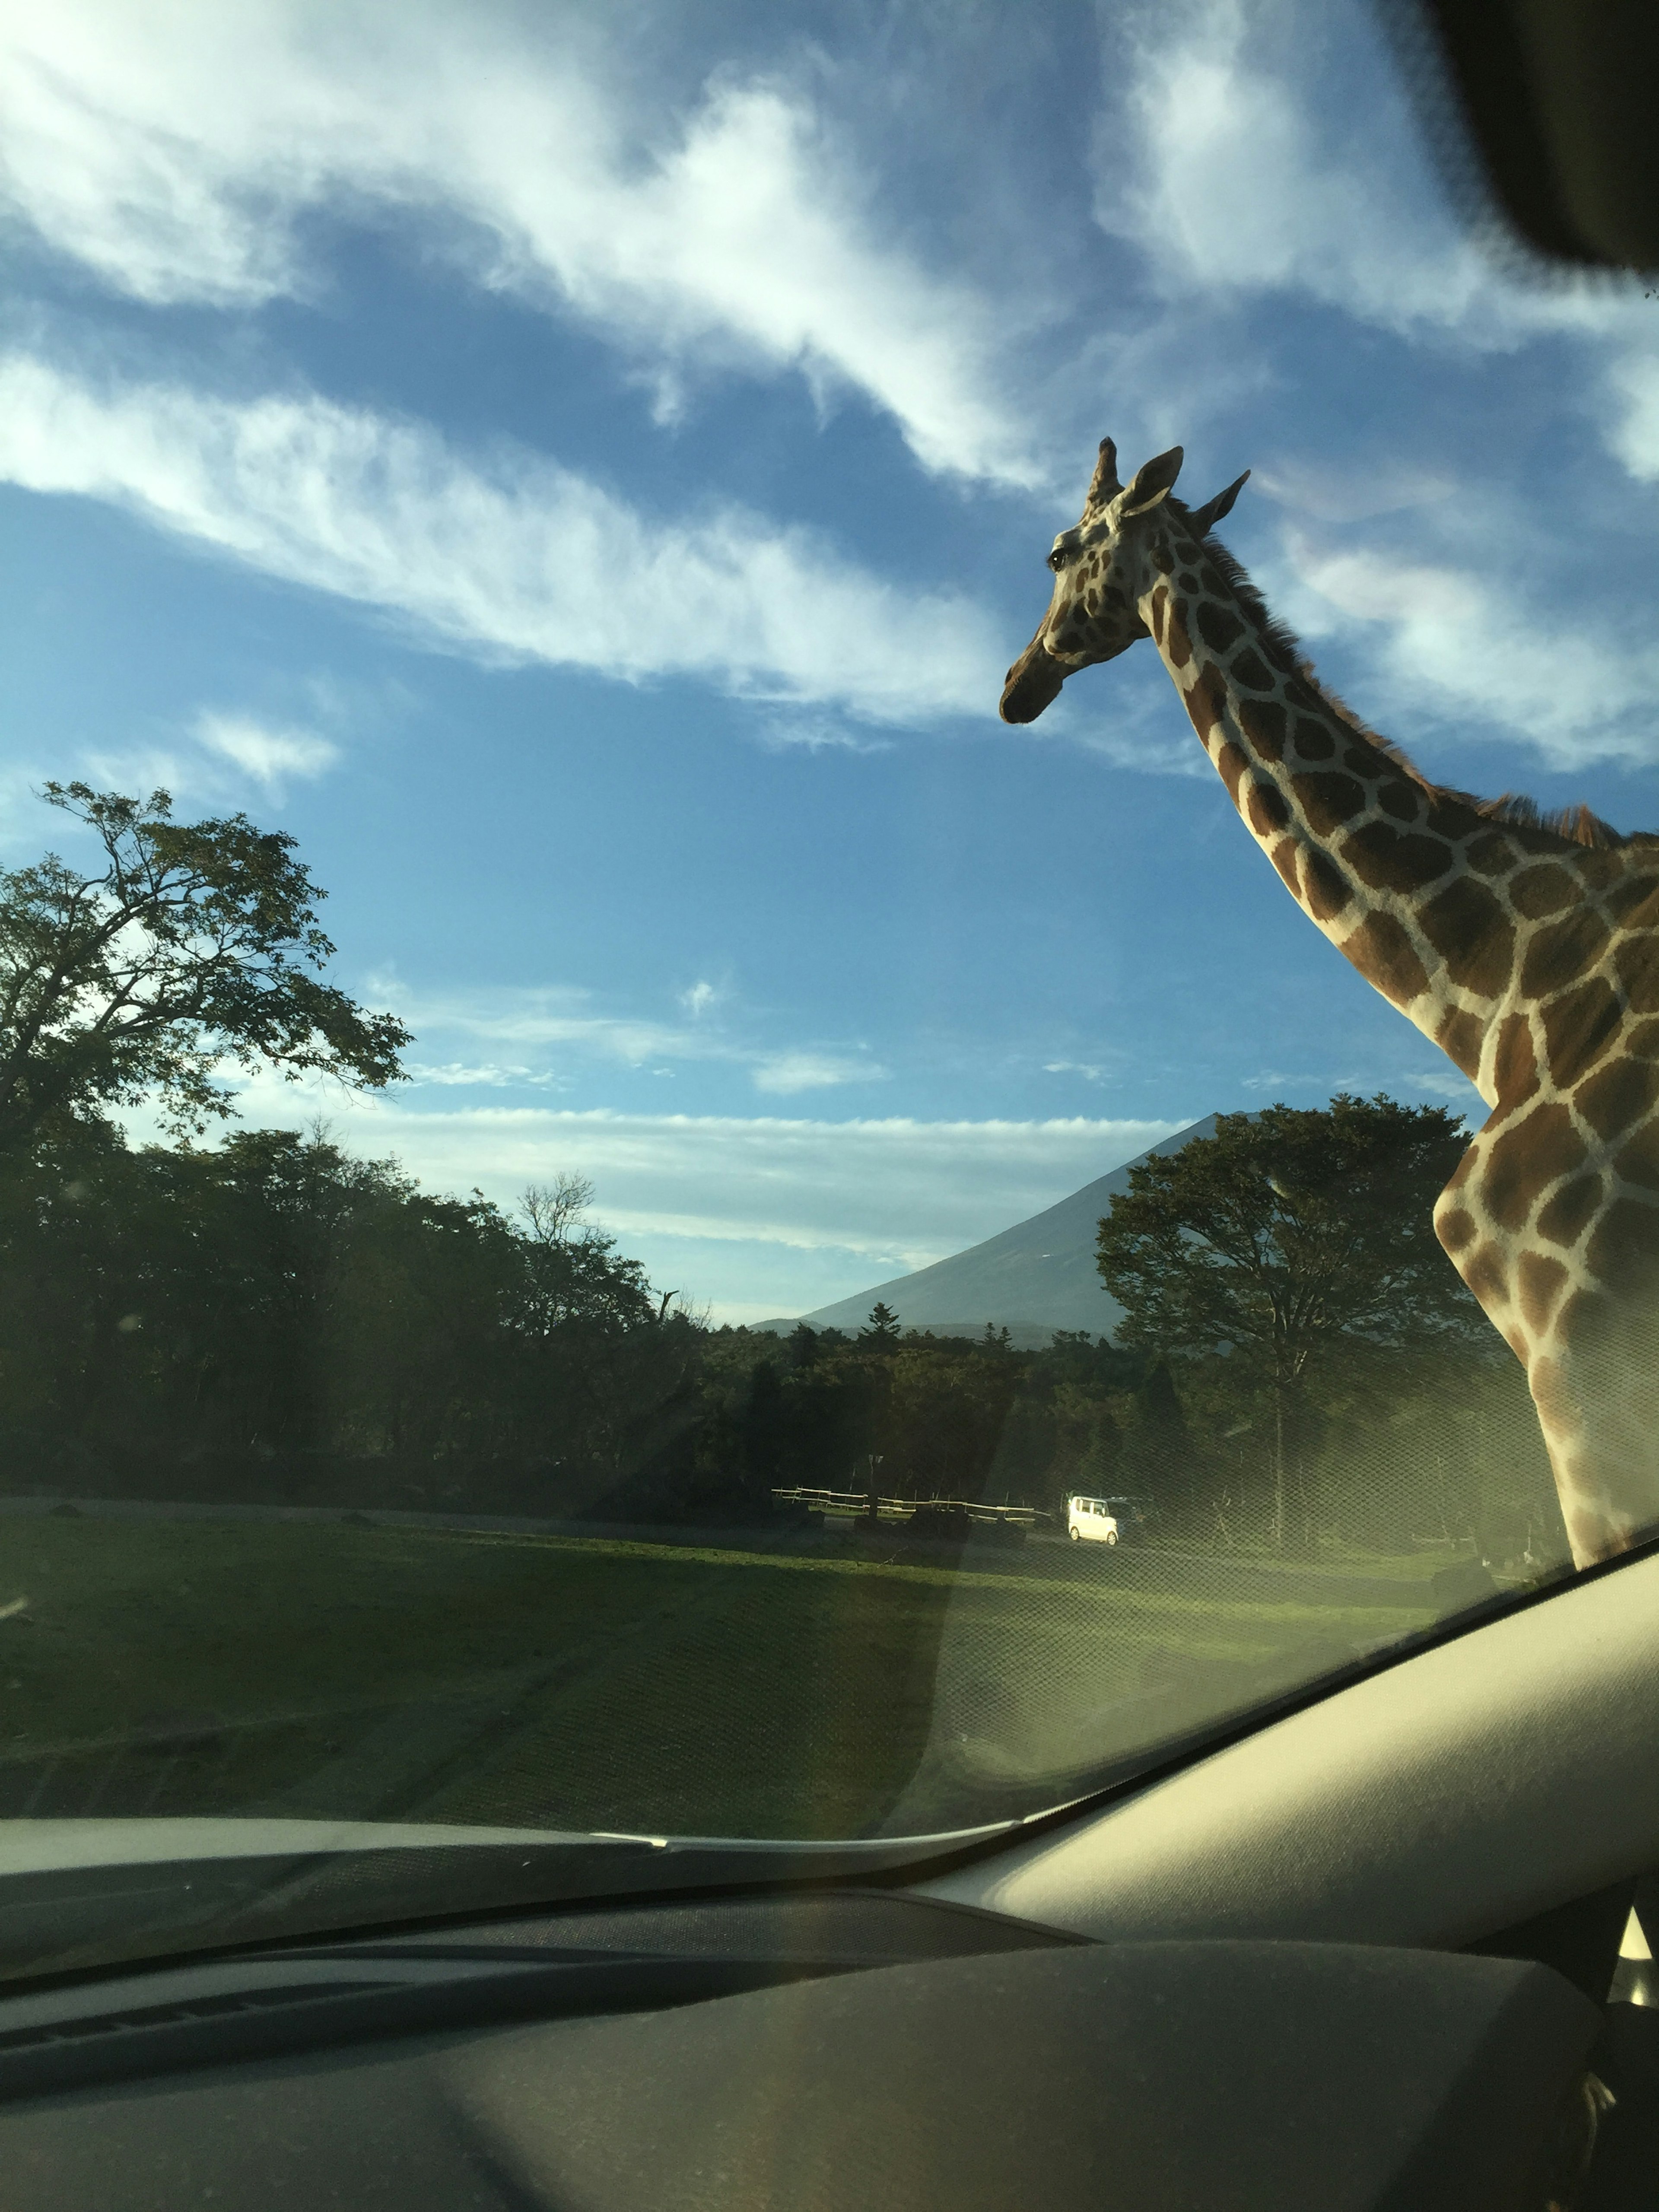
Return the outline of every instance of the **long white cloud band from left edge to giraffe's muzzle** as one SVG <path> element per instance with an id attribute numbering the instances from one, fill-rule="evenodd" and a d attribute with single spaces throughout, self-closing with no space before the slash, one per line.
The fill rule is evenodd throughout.
<path id="1" fill-rule="evenodd" d="M 265 575 L 394 611 L 473 653 L 876 721 L 995 710 L 1006 639 L 741 509 L 641 515 L 533 453 L 469 462 L 431 429 L 321 398 L 97 387 L 0 356 L 0 478 L 82 493 Z"/>

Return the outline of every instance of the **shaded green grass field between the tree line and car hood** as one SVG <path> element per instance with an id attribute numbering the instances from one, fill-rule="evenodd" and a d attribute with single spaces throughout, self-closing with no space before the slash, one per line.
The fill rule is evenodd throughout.
<path id="1" fill-rule="evenodd" d="M 962 1825 L 1427 1626 L 1436 1564 L 13 1517 L 0 1814 Z"/>

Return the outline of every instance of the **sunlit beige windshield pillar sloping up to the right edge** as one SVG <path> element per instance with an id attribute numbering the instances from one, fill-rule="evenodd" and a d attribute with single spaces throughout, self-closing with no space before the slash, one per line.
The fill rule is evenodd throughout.
<path id="1" fill-rule="evenodd" d="M 1462 1947 L 1659 1865 L 1659 1553 L 914 1885 L 1104 1942 Z"/>

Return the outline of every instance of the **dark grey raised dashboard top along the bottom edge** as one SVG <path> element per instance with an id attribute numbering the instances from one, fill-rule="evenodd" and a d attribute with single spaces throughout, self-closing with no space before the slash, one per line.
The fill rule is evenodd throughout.
<path id="1" fill-rule="evenodd" d="M 1520 2212 L 1599 2011 L 1542 1966 L 1011 1951 L 0 2108 L 7 2212 Z"/>

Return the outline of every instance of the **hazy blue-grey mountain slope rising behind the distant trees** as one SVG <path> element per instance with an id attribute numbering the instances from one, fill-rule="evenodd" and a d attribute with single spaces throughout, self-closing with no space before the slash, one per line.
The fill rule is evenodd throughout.
<path id="1" fill-rule="evenodd" d="M 918 1267 L 916 1274 L 872 1283 L 869 1290 L 821 1305 L 803 1318 L 814 1329 L 860 1329 L 869 1307 L 883 1298 L 907 1329 L 933 1329 L 940 1336 L 980 1336 L 987 1321 L 1006 1329 L 1015 1345 L 1033 1349 L 1046 1345 L 1055 1329 L 1104 1336 L 1124 1318 L 1124 1307 L 1106 1294 L 1095 1272 L 1099 1217 L 1119 1190 L 1128 1190 L 1128 1170 L 1139 1168 L 1141 1159 L 1179 1152 L 1192 1137 L 1212 1135 L 1214 1115 L 1208 1115 L 1029 1221 L 1015 1221 L 1011 1230 L 933 1261 L 931 1267 Z M 761 1327 L 787 1332 L 794 1321 L 763 1321 Z"/>

